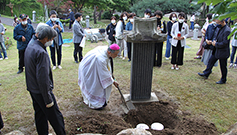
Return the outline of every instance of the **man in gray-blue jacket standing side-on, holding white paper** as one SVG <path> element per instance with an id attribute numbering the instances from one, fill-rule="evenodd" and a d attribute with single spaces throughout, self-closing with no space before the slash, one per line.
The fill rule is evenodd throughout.
<path id="1" fill-rule="evenodd" d="M 81 25 L 81 19 L 82 19 L 82 14 L 81 13 L 76 13 L 75 14 L 75 19 L 76 21 L 74 21 L 72 29 L 73 29 L 73 43 L 74 43 L 74 60 L 76 63 L 78 62 L 78 57 L 77 54 L 79 54 L 79 61 L 81 62 L 81 60 L 83 59 L 82 56 L 82 50 L 83 48 L 80 46 L 80 43 L 83 39 L 83 37 L 86 37 L 85 34 L 85 30 L 82 28 Z"/>

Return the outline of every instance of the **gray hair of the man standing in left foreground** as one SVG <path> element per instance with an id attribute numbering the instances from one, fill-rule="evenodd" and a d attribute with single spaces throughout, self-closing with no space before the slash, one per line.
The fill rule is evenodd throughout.
<path id="1" fill-rule="evenodd" d="M 48 37 L 48 39 L 51 40 L 56 36 L 57 36 L 57 32 L 50 26 L 47 26 L 47 27 L 43 27 L 43 29 L 41 31 L 39 31 L 38 39 L 42 40 L 45 37 Z"/>

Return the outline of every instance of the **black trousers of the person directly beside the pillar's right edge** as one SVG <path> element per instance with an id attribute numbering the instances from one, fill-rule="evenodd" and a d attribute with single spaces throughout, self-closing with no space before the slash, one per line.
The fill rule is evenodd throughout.
<path id="1" fill-rule="evenodd" d="M 154 66 L 161 67 L 162 51 L 163 51 L 163 42 L 155 43 Z"/>

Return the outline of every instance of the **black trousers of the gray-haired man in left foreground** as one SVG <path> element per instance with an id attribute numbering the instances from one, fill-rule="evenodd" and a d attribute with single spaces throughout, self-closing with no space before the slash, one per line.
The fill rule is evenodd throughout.
<path id="1" fill-rule="evenodd" d="M 48 121 L 57 135 L 65 135 L 64 119 L 58 109 L 53 92 L 50 92 L 54 105 L 46 108 L 43 96 L 30 92 L 35 110 L 35 125 L 39 135 L 48 135 Z"/>

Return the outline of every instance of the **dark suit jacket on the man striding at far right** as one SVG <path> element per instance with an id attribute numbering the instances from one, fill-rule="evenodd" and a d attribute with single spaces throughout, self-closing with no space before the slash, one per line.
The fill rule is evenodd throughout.
<path id="1" fill-rule="evenodd" d="M 231 30 L 227 25 L 217 31 L 215 51 L 213 51 L 217 59 L 230 57 L 230 39 L 228 39 L 230 33 Z"/>

